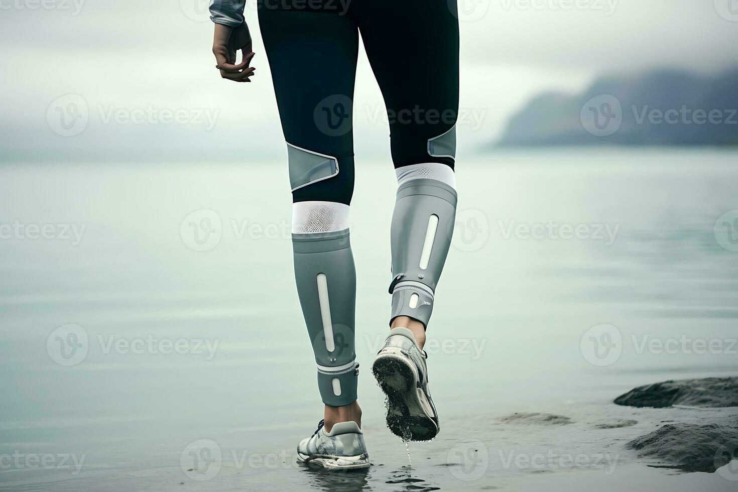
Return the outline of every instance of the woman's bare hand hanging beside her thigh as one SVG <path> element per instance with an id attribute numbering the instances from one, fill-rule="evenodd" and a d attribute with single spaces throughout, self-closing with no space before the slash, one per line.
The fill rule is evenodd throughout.
<path id="1" fill-rule="evenodd" d="M 235 65 L 238 50 L 241 50 L 243 58 L 241 63 Z M 249 77 L 254 75 L 255 68 L 250 68 L 249 63 L 254 58 L 254 53 L 251 51 L 251 36 L 245 22 L 238 27 L 215 24 L 213 55 L 217 63 L 215 68 L 221 71 L 221 77 L 235 82 L 251 82 Z"/>

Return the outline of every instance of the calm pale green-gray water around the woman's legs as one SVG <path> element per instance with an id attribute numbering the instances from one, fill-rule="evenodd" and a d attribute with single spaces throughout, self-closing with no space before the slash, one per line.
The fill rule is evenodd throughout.
<path id="1" fill-rule="evenodd" d="M 359 401 L 375 466 L 341 475 L 293 463 L 322 411 L 286 164 L 4 164 L 0 489 L 734 490 L 647 468 L 624 443 L 735 409 L 610 402 L 738 373 L 738 212 L 721 218 L 738 209 L 738 153 L 460 162 L 427 345 L 442 432 L 410 444 L 412 465 L 368 370 L 387 330 L 394 173 L 358 162 Z M 498 420 L 514 412 L 572 423 Z M 618 418 L 638 424 L 594 428 Z"/>

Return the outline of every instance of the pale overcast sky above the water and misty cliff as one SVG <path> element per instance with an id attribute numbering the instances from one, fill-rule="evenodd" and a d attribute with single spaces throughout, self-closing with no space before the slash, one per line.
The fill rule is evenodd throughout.
<path id="1" fill-rule="evenodd" d="M 541 91 L 578 91 L 602 74 L 653 67 L 738 65 L 737 0 L 460 5 L 467 149 L 493 142 L 511 112 Z M 201 159 L 213 149 L 283 156 L 253 5 L 246 18 L 258 77 L 249 85 L 221 80 L 214 69 L 207 0 L 0 0 L 0 10 L 0 159 Z M 65 94 L 76 95 L 55 103 Z M 388 152 L 381 95 L 363 53 L 355 104 L 356 153 Z M 142 109 L 143 122 L 125 120 Z M 86 114 L 83 130 L 63 136 L 76 130 L 55 124 L 58 111 Z M 161 122 L 168 111 L 180 122 Z"/>

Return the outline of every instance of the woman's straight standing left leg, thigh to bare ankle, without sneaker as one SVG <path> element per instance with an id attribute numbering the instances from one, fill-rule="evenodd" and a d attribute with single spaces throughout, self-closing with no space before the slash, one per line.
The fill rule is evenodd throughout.
<path id="1" fill-rule="evenodd" d="M 288 146 L 297 293 L 330 432 L 334 423 L 361 423 L 348 231 L 358 33 L 345 15 L 304 9 L 261 7 L 259 23 Z"/>

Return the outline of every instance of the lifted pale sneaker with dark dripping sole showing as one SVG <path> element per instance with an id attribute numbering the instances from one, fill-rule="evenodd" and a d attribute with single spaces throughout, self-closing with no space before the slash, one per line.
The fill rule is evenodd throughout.
<path id="1" fill-rule="evenodd" d="M 441 430 L 428 389 L 427 358 L 412 331 L 394 328 L 372 365 L 387 395 L 387 427 L 403 440 L 431 440 Z"/>

